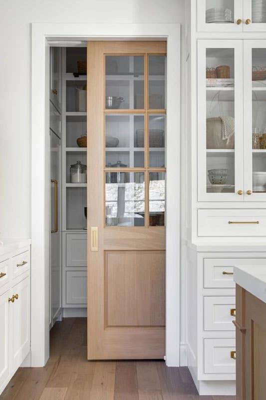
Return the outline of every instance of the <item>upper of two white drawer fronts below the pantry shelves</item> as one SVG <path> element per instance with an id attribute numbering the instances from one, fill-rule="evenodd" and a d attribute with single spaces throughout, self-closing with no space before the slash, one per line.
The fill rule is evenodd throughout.
<path id="1" fill-rule="evenodd" d="M 66 234 L 66 266 L 87 266 L 86 234 Z"/>

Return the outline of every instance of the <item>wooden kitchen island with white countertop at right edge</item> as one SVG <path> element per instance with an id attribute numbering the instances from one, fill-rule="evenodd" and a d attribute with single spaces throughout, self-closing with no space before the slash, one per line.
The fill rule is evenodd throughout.
<path id="1" fill-rule="evenodd" d="M 266 266 L 234 268 L 237 400 L 266 398 Z"/>

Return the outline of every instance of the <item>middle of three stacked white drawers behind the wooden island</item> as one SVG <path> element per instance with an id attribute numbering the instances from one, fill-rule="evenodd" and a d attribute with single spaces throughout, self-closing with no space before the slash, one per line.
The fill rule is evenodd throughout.
<path id="1" fill-rule="evenodd" d="M 231 309 L 235 296 L 204 296 L 204 330 L 235 330 Z"/>

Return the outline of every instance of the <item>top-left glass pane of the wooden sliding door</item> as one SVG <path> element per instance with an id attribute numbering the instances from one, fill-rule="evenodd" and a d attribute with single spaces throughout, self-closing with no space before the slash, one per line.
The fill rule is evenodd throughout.
<path id="1" fill-rule="evenodd" d="M 105 108 L 144 108 L 143 55 L 106 55 Z"/>

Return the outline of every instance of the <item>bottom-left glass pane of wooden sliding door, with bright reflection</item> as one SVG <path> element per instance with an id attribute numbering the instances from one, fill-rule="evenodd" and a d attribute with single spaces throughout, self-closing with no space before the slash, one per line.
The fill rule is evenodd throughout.
<path id="1" fill-rule="evenodd" d="M 106 226 L 144 226 L 144 172 L 105 173 Z"/>

